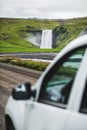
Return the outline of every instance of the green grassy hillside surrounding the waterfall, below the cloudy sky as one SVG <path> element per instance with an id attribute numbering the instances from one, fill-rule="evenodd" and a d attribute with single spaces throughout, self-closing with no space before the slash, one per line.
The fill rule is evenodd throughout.
<path id="1" fill-rule="evenodd" d="M 69 41 L 87 28 L 87 18 L 68 20 L 9 19 L 0 18 L 0 52 L 60 51 Z M 40 49 L 24 38 L 32 30 L 53 30 L 53 48 Z"/>

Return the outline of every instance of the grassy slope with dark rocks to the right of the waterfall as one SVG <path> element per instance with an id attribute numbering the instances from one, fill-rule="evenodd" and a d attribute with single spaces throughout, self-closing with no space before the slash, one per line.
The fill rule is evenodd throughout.
<path id="1" fill-rule="evenodd" d="M 70 41 L 80 35 L 80 33 L 87 29 L 87 18 L 78 18 L 66 20 L 62 25 L 57 26 L 53 30 L 54 48 L 59 51 L 66 46 Z"/>

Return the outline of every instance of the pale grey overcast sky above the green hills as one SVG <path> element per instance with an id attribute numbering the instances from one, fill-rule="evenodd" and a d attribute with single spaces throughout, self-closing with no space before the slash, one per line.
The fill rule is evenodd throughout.
<path id="1" fill-rule="evenodd" d="M 73 18 L 87 16 L 87 0 L 0 0 L 0 17 Z"/>

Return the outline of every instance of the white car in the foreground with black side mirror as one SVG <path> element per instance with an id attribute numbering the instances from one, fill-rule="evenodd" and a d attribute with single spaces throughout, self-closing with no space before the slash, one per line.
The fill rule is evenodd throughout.
<path id="1" fill-rule="evenodd" d="M 37 83 L 16 87 L 6 130 L 87 130 L 87 35 L 69 43 Z"/>

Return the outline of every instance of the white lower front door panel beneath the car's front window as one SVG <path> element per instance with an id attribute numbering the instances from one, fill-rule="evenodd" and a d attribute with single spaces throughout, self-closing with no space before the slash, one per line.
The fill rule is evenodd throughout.
<path id="1" fill-rule="evenodd" d="M 26 113 L 26 130 L 62 130 L 71 112 L 31 101 Z"/>

